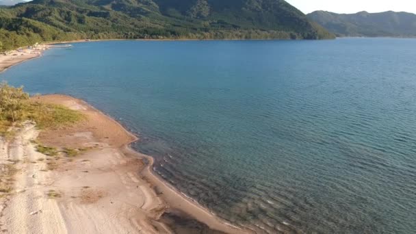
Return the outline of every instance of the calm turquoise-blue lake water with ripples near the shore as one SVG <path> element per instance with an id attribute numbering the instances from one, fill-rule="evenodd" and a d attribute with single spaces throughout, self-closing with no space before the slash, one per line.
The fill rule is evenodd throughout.
<path id="1" fill-rule="evenodd" d="M 257 233 L 414 233 L 416 40 L 73 44 L 0 75 L 85 99 Z"/>

